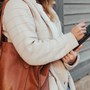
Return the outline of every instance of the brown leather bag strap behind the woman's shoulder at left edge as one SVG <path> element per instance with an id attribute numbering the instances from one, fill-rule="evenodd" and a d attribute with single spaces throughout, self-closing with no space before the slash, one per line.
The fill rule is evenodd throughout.
<path id="1" fill-rule="evenodd" d="M 0 9 L 0 46 L 2 45 L 2 17 L 3 17 L 3 14 L 4 14 L 4 9 L 5 9 L 5 6 L 7 4 L 8 0 L 4 0 L 4 2 L 2 3 L 2 7 Z"/>

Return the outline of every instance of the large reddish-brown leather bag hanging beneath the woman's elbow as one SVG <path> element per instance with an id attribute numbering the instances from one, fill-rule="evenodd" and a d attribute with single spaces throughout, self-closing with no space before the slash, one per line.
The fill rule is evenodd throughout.
<path id="1" fill-rule="evenodd" d="M 2 42 L 0 48 L 0 90 L 49 90 L 50 65 L 28 65 L 19 56 L 13 44 L 3 40 L 0 40 Z"/>

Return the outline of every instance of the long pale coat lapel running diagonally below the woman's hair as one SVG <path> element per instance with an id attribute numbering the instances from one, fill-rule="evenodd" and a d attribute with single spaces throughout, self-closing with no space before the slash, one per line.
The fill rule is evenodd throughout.
<path id="1" fill-rule="evenodd" d="M 57 28 L 54 26 L 53 22 L 50 20 L 50 18 L 46 15 L 46 13 L 43 10 L 43 7 L 41 4 L 35 3 L 36 0 L 24 0 L 29 8 L 34 11 L 35 16 L 38 16 L 38 18 L 42 18 L 43 21 L 47 24 L 48 28 L 50 29 L 52 35 L 54 38 L 59 37 L 59 33 Z"/>

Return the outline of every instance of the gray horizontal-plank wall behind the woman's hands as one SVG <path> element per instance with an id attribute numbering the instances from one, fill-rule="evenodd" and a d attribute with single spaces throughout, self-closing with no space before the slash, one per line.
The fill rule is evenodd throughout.
<path id="1" fill-rule="evenodd" d="M 64 33 L 82 21 L 87 25 L 90 23 L 90 0 L 63 0 L 64 7 Z M 81 59 L 79 65 L 71 71 L 75 80 L 90 73 L 90 39 L 84 43 L 84 48 L 80 51 Z"/>

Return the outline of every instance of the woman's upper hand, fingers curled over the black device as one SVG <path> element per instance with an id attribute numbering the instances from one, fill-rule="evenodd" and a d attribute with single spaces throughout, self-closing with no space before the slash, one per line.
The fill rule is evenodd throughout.
<path id="1" fill-rule="evenodd" d="M 71 33 L 76 37 L 77 41 L 79 41 L 86 33 L 86 24 L 79 23 L 71 30 Z"/>

